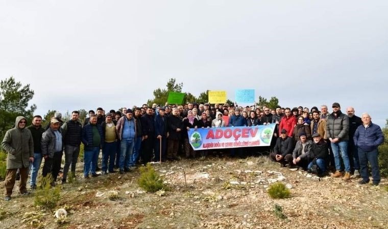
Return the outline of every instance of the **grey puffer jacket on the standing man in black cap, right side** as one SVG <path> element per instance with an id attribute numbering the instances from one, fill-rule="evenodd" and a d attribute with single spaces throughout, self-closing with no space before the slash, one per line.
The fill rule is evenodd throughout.
<path id="1" fill-rule="evenodd" d="M 341 110 L 337 113 L 337 118 L 334 117 L 334 112 L 327 118 L 327 138 L 334 139 L 338 137 L 340 141 L 347 141 L 349 140 L 349 117 L 344 115 Z"/>

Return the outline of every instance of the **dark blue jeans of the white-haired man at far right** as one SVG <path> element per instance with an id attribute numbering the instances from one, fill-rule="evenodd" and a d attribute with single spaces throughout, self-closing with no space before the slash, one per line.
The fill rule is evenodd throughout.
<path id="1" fill-rule="evenodd" d="M 358 148 L 358 158 L 360 160 L 360 176 L 362 180 L 369 182 L 368 173 L 368 161 L 371 163 L 373 183 L 380 183 L 380 170 L 378 163 L 378 152 L 377 149 L 373 151 L 363 151 Z"/>

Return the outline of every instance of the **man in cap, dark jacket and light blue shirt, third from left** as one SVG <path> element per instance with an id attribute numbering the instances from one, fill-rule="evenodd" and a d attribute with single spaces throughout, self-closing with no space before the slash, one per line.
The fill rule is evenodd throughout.
<path id="1" fill-rule="evenodd" d="M 63 135 L 59 125 L 60 122 L 57 119 L 51 119 L 50 128 L 44 131 L 41 142 L 44 158 L 42 176 L 45 177 L 51 173 L 53 178 L 52 186 L 55 186 L 62 162 Z"/>

